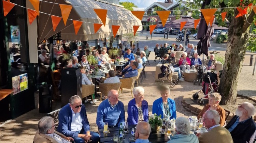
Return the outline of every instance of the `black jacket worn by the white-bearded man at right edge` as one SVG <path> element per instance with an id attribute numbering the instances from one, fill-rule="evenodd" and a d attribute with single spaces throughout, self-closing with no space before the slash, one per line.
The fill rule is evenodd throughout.
<path id="1" fill-rule="evenodd" d="M 229 129 L 233 123 L 236 122 L 238 116 L 235 115 L 230 122 L 228 123 L 225 128 Z M 253 121 L 253 118 L 251 117 L 249 120 L 245 121 L 244 123 L 239 123 L 236 128 L 234 128 L 230 134 L 232 136 L 234 143 L 245 143 L 246 141 L 249 142 L 250 138 L 252 137 L 254 131 L 255 131 L 255 122 Z"/>

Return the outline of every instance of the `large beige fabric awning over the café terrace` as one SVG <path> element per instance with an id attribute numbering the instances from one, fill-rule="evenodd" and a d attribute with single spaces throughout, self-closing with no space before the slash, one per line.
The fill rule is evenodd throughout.
<path id="1" fill-rule="evenodd" d="M 54 32 L 51 16 L 47 14 L 61 17 L 59 4 L 68 4 L 73 7 L 66 26 L 61 20 Z M 106 25 L 105 27 L 102 25 L 97 33 L 94 33 L 94 23 L 102 22 L 93 9 L 108 10 Z M 62 39 L 89 41 L 113 36 L 112 25 L 120 26 L 116 35 L 132 33 L 134 25 L 140 25 L 138 31 L 142 30 L 141 20 L 129 10 L 95 0 L 44 0 L 40 1 L 40 12 L 43 13 L 40 13 L 38 18 L 38 43 L 59 31 Z M 77 35 L 75 35 L 73 21 L 70 19 L 84 21 Z"/>

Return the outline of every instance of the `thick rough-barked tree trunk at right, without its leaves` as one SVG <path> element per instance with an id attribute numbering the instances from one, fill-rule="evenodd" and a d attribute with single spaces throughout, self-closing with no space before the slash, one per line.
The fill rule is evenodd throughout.
<path id="1" fill-rule="evenodd" d="M 232 16 L 228 31 L 227 51 L 223 73 L 218 92 L 222 95 L 221 104 L 230 105 L 236 102 L 237 85 L 241 69 L 243 67 L 248 26 L 244 17 Z"/>

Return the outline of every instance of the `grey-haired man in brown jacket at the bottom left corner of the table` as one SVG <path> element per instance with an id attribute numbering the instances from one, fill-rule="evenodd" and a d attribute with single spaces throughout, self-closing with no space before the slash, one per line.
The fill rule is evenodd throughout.
<path id="1" fill-rule="evenodd" d="M 38 122 L 38 131 L 35 133 L 34 143 L 70 143 L 74 141 L 71 137 L 66 137 L 62 133 L 55 131 L 55 123 L 50 116 L 42 117 Z"/>

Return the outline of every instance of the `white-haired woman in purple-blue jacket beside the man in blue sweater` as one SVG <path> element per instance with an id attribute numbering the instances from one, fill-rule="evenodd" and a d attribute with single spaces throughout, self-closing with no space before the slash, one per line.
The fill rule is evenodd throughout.
<path id="1" fill-rule="evenodd" d="M 134 88 L 132 93 L 134 98 L 128 103 L 128 117 L 129 125 L 137 125 L 141 121 L 148 121 L 148 104 L 144 99 L 144 89 L 141 87 Z"/>

